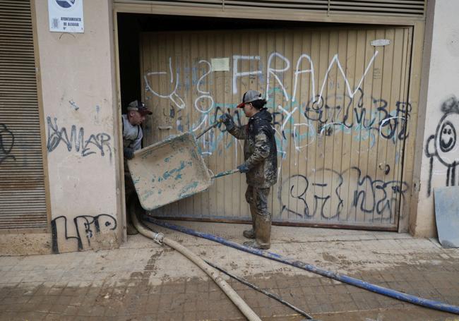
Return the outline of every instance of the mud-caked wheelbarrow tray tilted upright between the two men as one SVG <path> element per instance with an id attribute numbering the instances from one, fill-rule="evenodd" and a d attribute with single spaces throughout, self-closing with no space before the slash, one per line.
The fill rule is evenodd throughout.
<path id="1" fill-rule="evenodd" d="M 155 210 L 202 192 L 212 184 L 191 133 L 136 151 L 128 166 L 138 199 L 145 210 Z"/>

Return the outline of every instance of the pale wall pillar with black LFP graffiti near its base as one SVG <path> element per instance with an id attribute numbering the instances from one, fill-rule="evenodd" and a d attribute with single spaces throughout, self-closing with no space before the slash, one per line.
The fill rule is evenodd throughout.
<path id="1" fill-rule="evenodd" d="M 47 1 L 36 1 L 54 253 L 121 235 L 111 14 L 112 1 L 85 1 L 84 33 L 49 32 Z"/>

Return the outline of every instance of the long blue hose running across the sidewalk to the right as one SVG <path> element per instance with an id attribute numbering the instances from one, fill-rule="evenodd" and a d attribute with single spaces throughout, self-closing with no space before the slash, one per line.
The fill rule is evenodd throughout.
<path id="1" fill-rule="evenodd" d="M 416 305 L 421 305 L 424 308 L 431 308 L 435 310 L 441 310 L 441 311 L 446 311 L 449 313 L 454 313 L 456 315 L 459 315 L 459 307 L 455 305 L 450 305 L 446 303 L 441 303 L 439 301 L 433 301 L 429 300 L 427 298 L 419 298 L 418 296 L 412 296 L 407 293 L 395 291 L 392 289 L 387 289 L 383 286 L 378 286 L 375 284 L 371 284 L 359 279 L 355 279 L 353 277 L 347 277 L 347 275 L 342 275 L 338 274 L 335 272 L 328 271 L 326 269 L 321 269 L 319 267 L 315 267 L 314 265 L 310 265 L 304 262 L 301 262 L 299 260 L 294 260 L 292 258 L 284 258 L 282 255 L 276 254 L 269 252 L 267 250 L 257 250 L 256 248 L 250 248 L 248 246 L 243 246 L 242 244 L 233 242 L 233 241 L 228 241 L 225 238 L 221 238 L 220 236 L 215 236 L 213 234 L 206 234 L 206 233 L 201 233 L 199 231 L 195 231 L 193 229 L 188 229 L 184 226 L 178 226 L 174 224 L 169 224 L 164 221 L 160 221 L 158 219 L 154 219 L 153 217 L 149 216 L 144 216 L 144 219 L 146 219 L 148 222 L 157 224 L 159 226 L 166 227 L 167 229 L 173 229 L 175 231 L 180 231 L 182 233 L 190 234 L 193 236 L 198 236 L 201 238 L 206 238 L 210 241 L 218 242 L 221 243 L 225 246 L 230 246 L 232 248 L 236 248 L 237 250 L 243 250 L 244 252 L 247 253 L 252 253 L 258 256 L 261 256 L 263 258 L 268 258 L 270 260 L 275 260 L 277 262 L 285 263 L 287 265 L 292 265 L 294 267 L 299 267 L 300 269 L 305 269 L 306 271 L 316 273 L 323 275 L 324 277 L 328 277 L 330 279 L 335 279 L 337 281 L 341 281 L 343 283 L 347 283 L 353 286 L 358 286 L 359 288 L 366 289 L 372 292 L 376 292 L 379 294 L 383 294 L 384 296 L 389 296 L 391 298 L 396 298 L 400 301 L 405 301 L 408 303 L 413 303 Z"/>

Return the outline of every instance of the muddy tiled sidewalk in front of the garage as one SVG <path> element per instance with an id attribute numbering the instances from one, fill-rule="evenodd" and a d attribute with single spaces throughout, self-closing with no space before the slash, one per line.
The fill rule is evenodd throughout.
<path id="1" fill-rule="evenodd" d="M 240 224 L 178 222 L 232 241 Z M 459 320 L 459 316 L 155 227 L 317 320 Z M 459 249 L 407 234 L 274 226 L 271 251 L 391 289 L 459 305 Z M 304 320 L 228 279 L 263 320 Z M 176 251 L 143 236 L 117 250 L 0 258 L 1 320 L 244 320 L 214 282 Z"/>

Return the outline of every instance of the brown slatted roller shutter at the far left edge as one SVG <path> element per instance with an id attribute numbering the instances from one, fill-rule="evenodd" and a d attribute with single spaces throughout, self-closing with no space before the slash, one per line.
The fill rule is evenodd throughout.
<path id="1" fill-rule="evenodd" d="M 0 1 L 0 231 L 44 229 L 40 116 L 29 0 Z"/>

